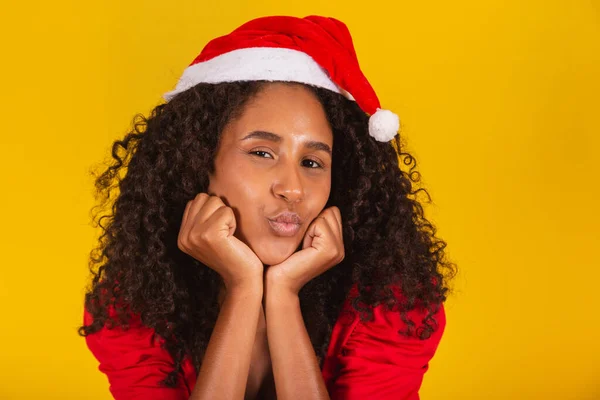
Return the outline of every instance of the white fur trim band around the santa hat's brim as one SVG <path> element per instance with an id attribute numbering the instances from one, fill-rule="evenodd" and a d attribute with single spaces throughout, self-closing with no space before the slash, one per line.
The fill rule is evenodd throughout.
<path id="1" fill-rule="evenodd" d="M 308 54 L 277 47 L 249 47 L 233 50 L 210 60 L 187 67 L 175 90 L 163 98 L 171 100 L 200 82 L 287 81 L 329 89 L 354 100 L 352 95 L 336 85 L 327 72 Z"/>

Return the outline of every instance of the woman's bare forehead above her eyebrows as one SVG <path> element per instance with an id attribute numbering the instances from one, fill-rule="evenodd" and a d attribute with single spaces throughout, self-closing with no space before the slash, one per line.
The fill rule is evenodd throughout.
<path id="1" fill-rule="evenodd" d="M 316 95 L 298 84 L 264 86 L 226 127 L 222 139 L 240 140 L 251 131 L 273 132 L 286 139 L 333 145 L 333 133 Z"/>

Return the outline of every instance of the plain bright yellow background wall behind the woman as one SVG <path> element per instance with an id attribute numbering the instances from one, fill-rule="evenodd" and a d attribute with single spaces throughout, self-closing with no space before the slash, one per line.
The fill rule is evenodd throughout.
<path id="1" fill-rule="evenodd" d="M 322 14 L 400 115 L 460 268 L 422 398 L 600 399 L 598 1 L 10 3 L 0 398 L 110 398 L 76 333 L 90 168 L 210 38 Z"/>

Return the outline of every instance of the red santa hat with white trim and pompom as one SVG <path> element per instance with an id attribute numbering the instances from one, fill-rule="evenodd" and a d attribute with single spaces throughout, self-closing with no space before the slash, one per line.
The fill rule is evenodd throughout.
<path id="1" fill-rule="evenodd" d="M 356 101 L 370 115 L 369 134 L 378 141 L 393 139 L 400 128 L 360 70 L 346 25 L 314 15 L 261 17 L 211 40 L 163 97 L 169 101 L 200 82 L 257 80 L 305 83 Z"/>

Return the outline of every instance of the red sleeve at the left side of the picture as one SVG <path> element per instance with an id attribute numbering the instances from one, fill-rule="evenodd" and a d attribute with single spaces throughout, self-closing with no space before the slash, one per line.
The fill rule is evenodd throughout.
<path id="1" fill-rule="evenodd" d="M 91 315 L 84 311 L 84 322 L 89 324 Z M 106 374 L 110 392 L 116 400 L 183 400 L 188 399 L 190 390 L 180 379 L 177 388 L 159 385 L 172 370 L 173 359 L 169 352 L 160 347 L 162 339 L 156 340 L 154 330 L 132 323 L 128 330 L 107 329 L 86 336 L 86 343 L 100 362 L 98 369 Z M 186 360 L 187 361 L 187 360 Z M 184 363 L 186 378 L 195 372 Z"/>

